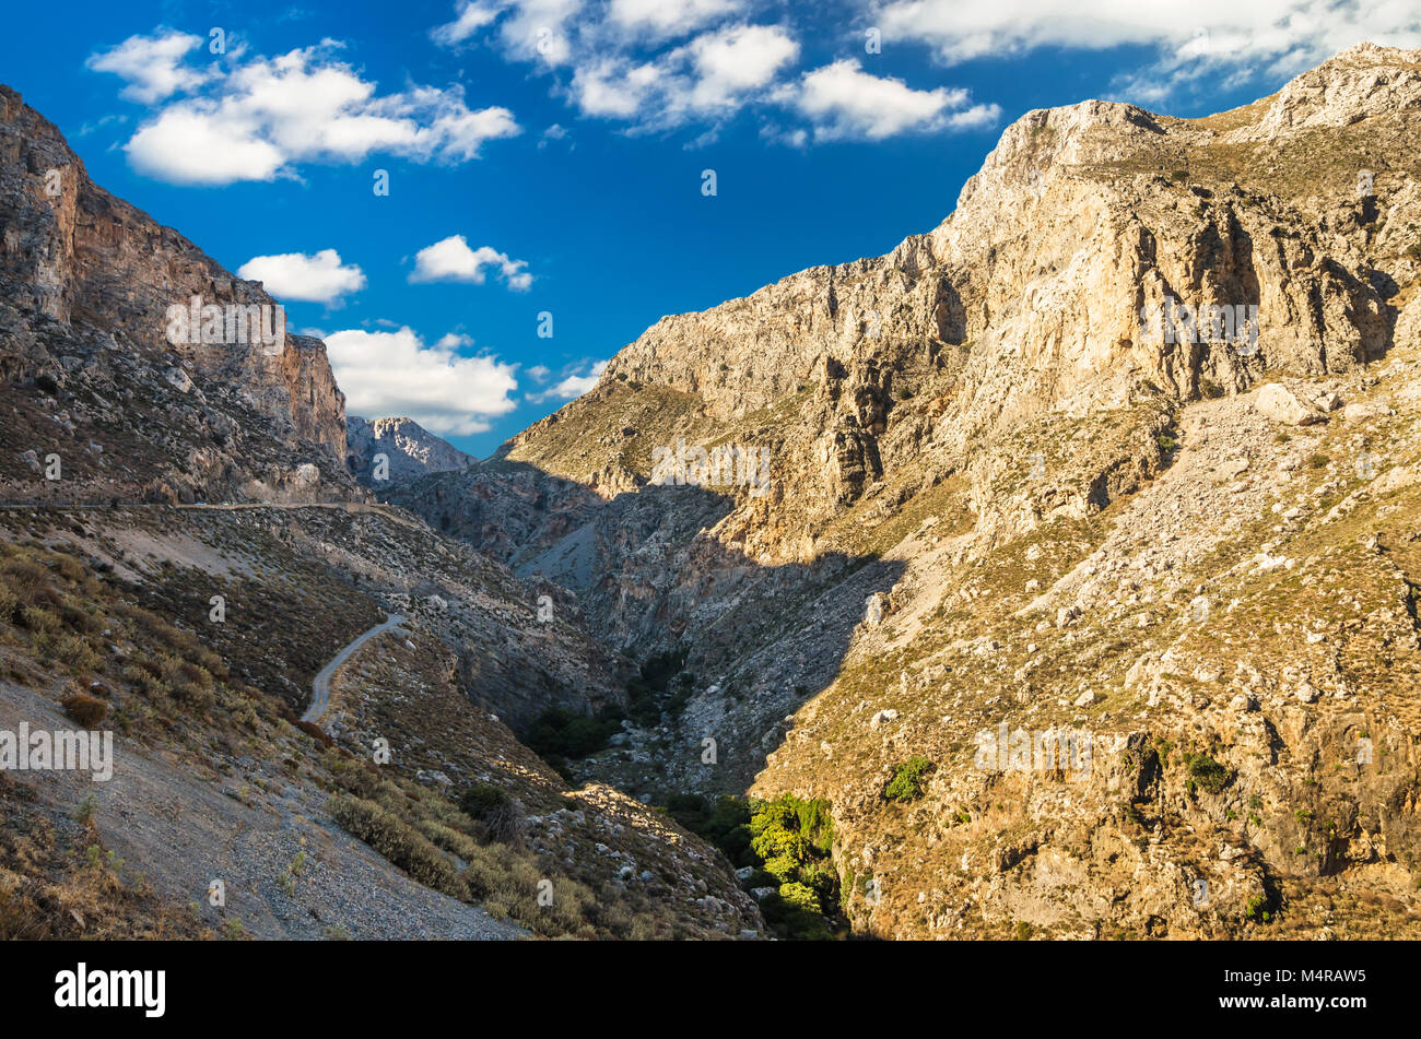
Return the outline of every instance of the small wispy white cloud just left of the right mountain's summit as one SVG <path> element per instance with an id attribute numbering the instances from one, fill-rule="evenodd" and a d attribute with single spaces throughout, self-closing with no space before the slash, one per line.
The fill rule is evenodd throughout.
<path id="1" fill-rule="evenodd" d="M 908 132 L 975 129 L 995 123 L 1002 114 L 996 105 L 968 108 L 965 89 L 918 91 L 902 79 L 871 75 L 857 58 L 806 72 L 779 98 L 813 122 L 816 141 L 882 141 Z"/>

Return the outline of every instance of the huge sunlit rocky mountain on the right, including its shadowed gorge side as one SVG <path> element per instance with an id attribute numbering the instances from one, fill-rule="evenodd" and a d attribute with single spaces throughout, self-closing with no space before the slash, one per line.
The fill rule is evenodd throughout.
<path id="1" fill-rule="evenodd" d="M 1418 119 L 1374 45 L 1029 112 L 936 229 L 382 497 L 684 654 L 581 774 L 826 801 L 855 928 L 1414 933 Z"/>

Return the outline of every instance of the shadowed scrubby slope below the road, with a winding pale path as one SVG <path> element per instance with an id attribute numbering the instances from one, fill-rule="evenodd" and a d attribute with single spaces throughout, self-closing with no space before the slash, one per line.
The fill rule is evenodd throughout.
<path id="1" fill-rule="evenodd" d="M 4 774 L 0 935 L 757 935 L 713 849 L 514 737 L 621 696 L 621 661 L 529 590 L 378 511 L 0 512 L 0 728 L 70 728 L 87 696 L 115 734 L 107 782 Z M 297 724 L 387 612 L 404 630 L 337 671 L 323 727 Z"/>

